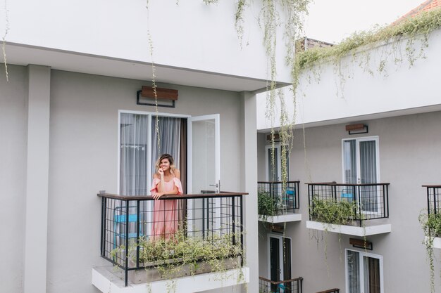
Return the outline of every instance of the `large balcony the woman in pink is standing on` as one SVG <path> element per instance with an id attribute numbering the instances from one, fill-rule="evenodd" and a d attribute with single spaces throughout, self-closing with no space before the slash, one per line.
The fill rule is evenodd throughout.
<path id="1" fill-rule="evenodd" d="M 199 292 L 248 282 L 243 266 L 246 193 L 151 196 L 99 194 L 101 292 Z M 157 291 L 156 291 L 157 290 Z"/>

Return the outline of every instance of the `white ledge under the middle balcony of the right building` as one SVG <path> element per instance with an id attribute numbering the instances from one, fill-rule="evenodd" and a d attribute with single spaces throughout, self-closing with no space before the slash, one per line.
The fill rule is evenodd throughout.
<path id="1" fill-rule="evenodd" d="M 357 227 L 347 225 L 330 225 L 328 223 L 321 223 L 316 221 L 306 221 L 306 228 L 323 231 L 326 230 L 328 232 L 360 237 L 390 233 L 392 231 L 391 224 Z"/>

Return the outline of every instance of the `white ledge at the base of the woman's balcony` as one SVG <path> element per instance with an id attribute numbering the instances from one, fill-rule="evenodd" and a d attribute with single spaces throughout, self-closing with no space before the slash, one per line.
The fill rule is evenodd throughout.
<path id="1" fill-rule="evenodd" d="M 242 271 L 242 272 L 241 272 Z M 222 287 L 230 287 L 249 282 L 249 268 L 242 267 L 221 273 L 204 273 L 173 280 L 159 280 L 155 282 L 132 284 L 124 286 L 124 280 L 115 273 L 113 266 L 92 268 L 92 285 L 103 293 L 145 293 L 168 292 L 173 286 L 175 293 L 201 292 Z"/>

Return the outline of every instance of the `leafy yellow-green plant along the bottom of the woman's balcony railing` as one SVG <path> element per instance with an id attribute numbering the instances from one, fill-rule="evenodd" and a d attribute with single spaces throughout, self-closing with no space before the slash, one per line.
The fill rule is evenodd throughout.
<path id="1" fill-rule="evenodd" d="M 235 238 L 235 242 L 233 242 Z M 140 237 L 138 244 L 133 242 L 128 249 L 128 256 L 136 261 L 137 247 L 139 247 L 139 263 L 148 268 L 156 268 L 161 278 L 172 280 L 183 273 L 194 275 L 201 266 L 208 264 L 211 272 L 221 273 L 219 278 L 230 278 L 222 275 L 227 269 L 240 268 L 243 257 L 243 248 L 240 244 L 240 233 L 219 235 L 213 233 L 205 237 L 186 237 L 183 232 L 176 233 L 170 239 L 156 240 Z M 125 254 L 122 245 L 113 249 L 111 257 Z M 216 277 L 216 278 L 218 278 Z M 238 276 L 240 282 L 244 276 Z M 168 283 L 168 292 L 175 291 L 175 282 Z"/>

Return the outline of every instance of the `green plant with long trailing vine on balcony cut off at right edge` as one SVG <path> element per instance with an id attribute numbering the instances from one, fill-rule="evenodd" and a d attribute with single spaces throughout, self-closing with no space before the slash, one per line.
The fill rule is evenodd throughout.
<path id="1" fill-rule="evenodd" d="M 421 228 L 424 230 L 426 236 L 423 240 L 423 245 L 426 246 L 427 259 L 430 268 L 430 292 L 435 292 L 435 267 L 433 261 L 433 240 L 434 237 L 441 237 L 441 214 L 421 211 L 418 216 L 418 221 L 421 223 Z M 441 272 L 440 272 L 441 276 Z"/>

